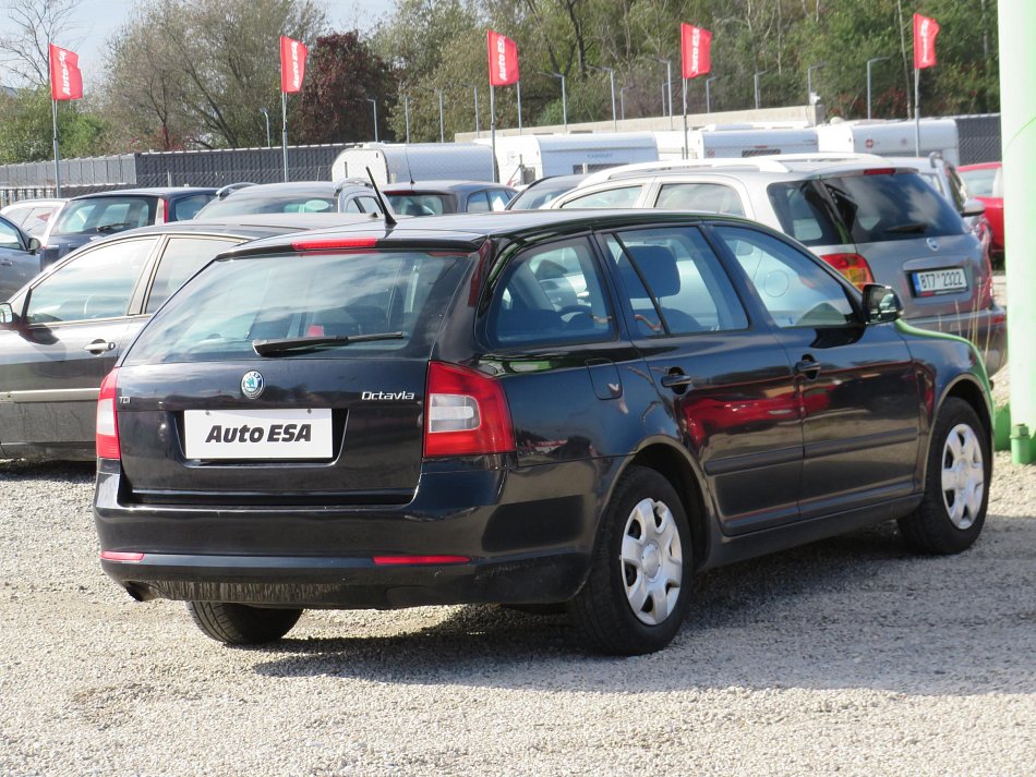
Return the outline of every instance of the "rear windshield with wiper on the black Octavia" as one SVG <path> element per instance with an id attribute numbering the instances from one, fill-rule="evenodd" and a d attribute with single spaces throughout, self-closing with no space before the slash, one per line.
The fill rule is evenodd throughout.
<path id="1" fill-rule="evenodd" d="M 219 259 L 158 312 L 127 364 L 254 361 L 257 340 L 378 335 L 386 337 L 268 357 L 426 357 L 467 256 L 395 251 Z"/>

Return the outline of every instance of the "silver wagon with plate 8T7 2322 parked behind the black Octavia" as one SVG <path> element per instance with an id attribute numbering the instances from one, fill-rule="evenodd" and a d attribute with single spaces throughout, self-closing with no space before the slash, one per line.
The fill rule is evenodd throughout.
<path id="1" fill-rule="evenodd" d="M 782 155 L 614 168 L 552 208 L 667 208 L 745 216 L 795 238 L 858 286 L 895 289 L 914 326 L 971 339 L 996 373 L 1007 313 L 978 239 L 918 174 L 868 155 Z M 969 214 L 969 211 L 965 211 Z"/>

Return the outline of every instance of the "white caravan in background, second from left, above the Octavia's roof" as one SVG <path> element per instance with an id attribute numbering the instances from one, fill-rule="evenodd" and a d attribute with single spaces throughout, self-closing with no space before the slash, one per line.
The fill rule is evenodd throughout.
<path id="1" fill-rule="evenodd" d="M 489 147 L 487 137 L 477 138 Z M 631 162 L 658 161 L 650 132 L 594 132 L 551 135 L 497 135 L 501 183 L 520 185 L 549 175 L 571 175 Z"/>

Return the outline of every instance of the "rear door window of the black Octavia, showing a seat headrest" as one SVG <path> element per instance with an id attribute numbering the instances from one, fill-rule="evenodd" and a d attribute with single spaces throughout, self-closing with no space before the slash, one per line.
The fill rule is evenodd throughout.
<path id="1" fill-rule="evenodd" d="M 748 327 L 726 271 L 697 229 L 630 230 L 607 242 L 639 336 Z"/>

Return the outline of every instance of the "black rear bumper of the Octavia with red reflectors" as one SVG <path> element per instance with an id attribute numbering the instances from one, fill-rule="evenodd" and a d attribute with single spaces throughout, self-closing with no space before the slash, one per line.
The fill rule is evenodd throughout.
<path id="1" fill-rule="evenodd" d="M 142 600 L 341 609 L 564 602 L 589 573 L 602 463 L 424 473 L 406 506 L 230 508 L 120 501 L 119 462 L 101 460 L 101 549 L 143 554 L 101 567 Z M 462 560 L 375 561 L 383 556 Z"/>

